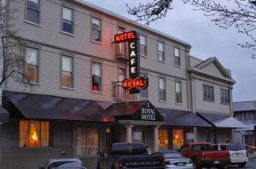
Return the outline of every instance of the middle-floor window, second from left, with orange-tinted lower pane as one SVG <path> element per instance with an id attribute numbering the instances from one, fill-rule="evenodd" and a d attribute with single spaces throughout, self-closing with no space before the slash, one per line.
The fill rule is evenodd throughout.
<path id="1" fill-rule="evenodd" d="M 73 59 L 69 56 L 62 56 L 61 59 L 61 87 L 73 87 Z"/>

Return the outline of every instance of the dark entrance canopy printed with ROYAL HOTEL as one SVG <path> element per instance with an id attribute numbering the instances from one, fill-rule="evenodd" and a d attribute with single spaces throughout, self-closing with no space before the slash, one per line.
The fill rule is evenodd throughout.
<path id="1" fill-rule="evenodd" d="M 108 121 L 164 121 L 160 112 L 148 100 L 112 104 L 104 111 Z"/>

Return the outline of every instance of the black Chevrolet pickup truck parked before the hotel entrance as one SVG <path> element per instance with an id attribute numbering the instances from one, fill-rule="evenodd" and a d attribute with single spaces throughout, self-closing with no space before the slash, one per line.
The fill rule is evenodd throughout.
<path id="1" fill-rule="evenodd" d="M 104 153 L 98 153 L 97 169 L 163 169 L 162 155 L 148 155 L 144 144 L 111 144 Z"/>

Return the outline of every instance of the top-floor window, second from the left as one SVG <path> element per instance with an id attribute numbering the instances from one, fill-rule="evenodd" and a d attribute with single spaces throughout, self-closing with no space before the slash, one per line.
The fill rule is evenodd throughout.
<path id="1" fill-rule="evenodd" d="M 62 31 L 73 34 L 73 9 L 62 7 Z"/>

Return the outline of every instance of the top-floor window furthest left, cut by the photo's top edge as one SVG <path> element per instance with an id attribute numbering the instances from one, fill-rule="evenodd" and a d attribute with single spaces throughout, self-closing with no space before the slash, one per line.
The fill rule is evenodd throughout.
<path id="1" fill-rule="evenodd" d="M 27 0 L 26 20 L 39 24 L 39 0 Z"/>

